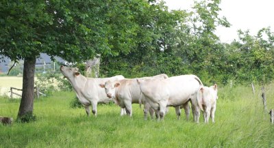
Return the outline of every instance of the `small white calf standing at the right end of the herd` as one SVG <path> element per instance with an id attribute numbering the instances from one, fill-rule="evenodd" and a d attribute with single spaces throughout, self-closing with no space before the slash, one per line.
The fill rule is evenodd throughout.
<path id="1" fill-rule="evenodd" d="M 211 87 L 201 86 L 197 93 L 197 103 L 199 108 L 203 110 L 203 119 L 205 123 L 208 123 L 210 117 L 212 122 L 214 122 L 215 110 L 216 110 L 216 101 L 218 99 L 218 90 L 217 85 Z M 199 118 L 198 118 L 199 120 Z"/>

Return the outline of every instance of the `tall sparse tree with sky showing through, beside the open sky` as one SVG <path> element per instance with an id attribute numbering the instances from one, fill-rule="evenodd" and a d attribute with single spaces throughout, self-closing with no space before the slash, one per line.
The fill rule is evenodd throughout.
<path id="1" fill-rule="evenodd" d="M 225 59 L 224 47 L 215 31 L 217 26 L 229 27 L 230 24 L 225 17 L 219 16 L 220 2 L 195 1 L 178 37 L 176 55 L 181 56 L 189 71 L 206 84 L 216 83 L 225 66 L 220 62 Z"/>

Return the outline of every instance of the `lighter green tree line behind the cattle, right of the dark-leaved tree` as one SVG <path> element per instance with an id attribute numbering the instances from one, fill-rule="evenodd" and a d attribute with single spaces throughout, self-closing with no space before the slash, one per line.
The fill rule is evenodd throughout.
<path id="1" fill-rule="evenodd" d="M 239 39 L 230 44 L 220 42 L 216 27 L 230 26 L 219 16 L 220 2 L 196 2 L 191 12 L 170 12 L 164 3 L 143 3 L 147 12 L 132 16 L 138 26 L 129 43 L 132 49 L 103 56 L 101 74 L 197 74 L 205 83 L 269 83 L 273 79 L 273 32 L 264 28 L 252 36 L 239 30 Z M 119 50 L 119 46 L 113 49 Z"/>

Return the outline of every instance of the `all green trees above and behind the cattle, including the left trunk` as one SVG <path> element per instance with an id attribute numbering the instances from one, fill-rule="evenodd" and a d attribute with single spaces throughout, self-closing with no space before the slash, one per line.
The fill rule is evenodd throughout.
<path id="1" fill-rule="evenodd" d="M 273 32 L 222 43 L 220 0 L 169 11 L 155 0 L 0 1 L 0 55 L 24 60 L 18 117 L 32 115 L 35 59 L 40 53 L 82 63 L 101 55 L 101 76 L 196 74 L 205 84 L 273 79 Z"/>

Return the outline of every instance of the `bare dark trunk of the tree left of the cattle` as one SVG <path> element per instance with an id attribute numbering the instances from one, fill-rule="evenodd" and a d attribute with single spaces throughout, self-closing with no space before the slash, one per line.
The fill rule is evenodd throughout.
<path id="1" fill-rule="evenodd" d="M 32 111 L 34 110 L 34 72 L 35 72 L 35 58 L 24 60 L 23 70 L 23 91 L 21 104 L 18 111 L 17 120 L 29 121 L 33 119 Z"/>

